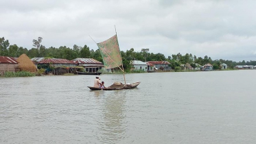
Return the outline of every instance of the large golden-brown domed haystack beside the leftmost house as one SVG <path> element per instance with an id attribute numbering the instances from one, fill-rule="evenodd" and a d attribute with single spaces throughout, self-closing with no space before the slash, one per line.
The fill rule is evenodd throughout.
<path id="1" fill-rule="evenodd" d="M 30 72 L 36 72 L 36 66 L 34 65 L 34 63 L 30 60 L 30 58 L 27 57 L 26 54 L 22 54 L 21 56 L 19 56 L 19 58 L 17 58 L 17 61 L 19 62 L 19 69 L 21 69 L 21 71 L 30 71 Z"/>

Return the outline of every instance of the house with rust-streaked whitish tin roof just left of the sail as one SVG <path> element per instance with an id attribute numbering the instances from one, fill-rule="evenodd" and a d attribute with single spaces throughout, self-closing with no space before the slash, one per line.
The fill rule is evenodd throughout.
<path id="1" fill-rule="evenodd" d="M 104 64 L 93 58 L 75 58 L 72 60 L 80 67 L 84 67 L 84 70 L 89 73 L 95 73 L 100 69 L 104 68 Z"/>

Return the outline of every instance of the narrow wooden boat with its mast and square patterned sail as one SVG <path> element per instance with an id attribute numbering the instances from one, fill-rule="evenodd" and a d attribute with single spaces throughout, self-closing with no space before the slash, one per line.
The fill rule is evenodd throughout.
<path id="1" fill-rule="evenodd" d="M 94 41 L 94 40 L 93 40 Z M 96 43 L 96 42 L 95 42 Z M 117 34 L 108 38 L 108 40 L 103 41 L 102 43 L 96 43 L 97 47 L 100 49 L 102 59 L 104 62 L 105 69 L 113 69 L 118 67 L 124 74 L 124 65 L 123 60 L 121 59 L 121 53 L 119 50 L 119 44 L 117 40 Z M 135 82 L 132 84 L 126 84 L 126 77 L 124 75 L 124 84 L 121 84 L 119 87 L 112 85 L 108 88 L 95 88 L 88 86 L 91 90 L 117 90 L 117 89 L 130 89 L 137 87 L 141 82 Z"/>

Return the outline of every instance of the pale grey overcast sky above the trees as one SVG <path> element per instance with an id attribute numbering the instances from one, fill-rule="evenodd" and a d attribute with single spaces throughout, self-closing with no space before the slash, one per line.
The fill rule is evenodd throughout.
<path id="1" fill-rule="evenodd" d="M 0 0 L 0 37 L 31 49 L 87 45 L 115 35 L 122 51 L 256 60 L 255 0 Z"/>

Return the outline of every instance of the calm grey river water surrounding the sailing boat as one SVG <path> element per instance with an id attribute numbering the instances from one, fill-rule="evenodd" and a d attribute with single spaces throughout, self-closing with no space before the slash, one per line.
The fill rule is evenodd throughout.
<path id="1" fill-rule="evenodd" d="M 256 143 L 255 70 L 94 78 L 0 78 L 0 143 Z"/>

